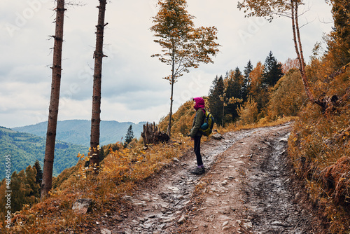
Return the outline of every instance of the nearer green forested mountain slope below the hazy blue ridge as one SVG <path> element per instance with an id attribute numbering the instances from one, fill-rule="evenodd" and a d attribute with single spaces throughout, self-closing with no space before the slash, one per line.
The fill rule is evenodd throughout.
<path id="1" fill-rule="evenodd" d="M 33 166 L 38 160 L 43 168 L 43 158 L 45 154 L 45 138 L 38 137 L 26 132 L 16 132 L 9 128 L 0 127 L 0 179 L 5 177 L 5 160 L 10 155 L 10 169 L 13 172 Z M 53 176 L 56 177 L 67 167 L 72 167 L 78 162 L 78 153 L 88 152 L 87 146 L 81 146 L 66 142 L 56 142 L 55 161 L 53 164 Z"/>

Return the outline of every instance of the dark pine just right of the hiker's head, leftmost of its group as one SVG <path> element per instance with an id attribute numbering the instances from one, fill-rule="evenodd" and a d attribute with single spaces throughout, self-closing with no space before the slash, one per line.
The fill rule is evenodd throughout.
<path id="1" fill-rule="evenodd" d="M 223 119 L 223 101 L 220 99 L 223 93 L 223 76 L 219 78 L 216 76 L 213 81 L 213 86 L 211 86 L 209 90 L 209 109 L 218 125 L 221 125 L 221 120 Z"/>

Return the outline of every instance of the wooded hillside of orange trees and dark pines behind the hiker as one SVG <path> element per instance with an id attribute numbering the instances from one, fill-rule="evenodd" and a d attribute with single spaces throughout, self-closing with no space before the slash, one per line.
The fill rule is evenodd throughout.
<path id="1" fill-rule="evenodd" d="M 307 101 L 302 79 L 295 60 L 279 62 L 272 52 L 265 62 L 255 67 L 249 60 L 243 72 L 239 67 L 216 76 L 208 96 L 206 108 L 213 114 L 216 126 L 256 125 L 276 121 L 283 116 L 297 116 Z M 172 116 L 172 134 L 188 135 L 195 110 L 193 101 L 184 103 Z M 169 116 L 160 121 L 165 131 Z"/>

